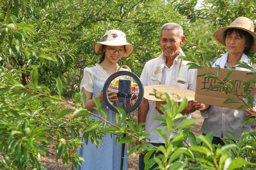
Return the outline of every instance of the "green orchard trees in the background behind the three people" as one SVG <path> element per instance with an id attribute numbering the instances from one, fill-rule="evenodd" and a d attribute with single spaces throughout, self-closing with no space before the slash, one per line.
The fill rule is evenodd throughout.
<path id="1" fill-rule="evenodd" d="M 140 76 L 147 60 L 157 57 L 159 34 L 167 22 L 183 26 L 183 51 L 201 60 L 218 58 L 225 48 L 210 36 L 236 17 L 255 20 L 255 1 L 230 0 L 1 0 L 1 66 L 29 71 L 37 68 L 39 84 L 55 93 L 55 78 L 64 85 L 64 95 L 79 91 L 82 70 L 99 60 L 93 45 L 107 30 L 127 34 L 135 51 L 122 59 Z M 25 72 L 25 69 L 27 72 Z"/>

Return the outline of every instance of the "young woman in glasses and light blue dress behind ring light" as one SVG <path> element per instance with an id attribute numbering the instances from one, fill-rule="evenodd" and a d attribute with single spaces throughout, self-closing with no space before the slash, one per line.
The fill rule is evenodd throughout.
<path id="1" fill-rule="evenodd" d="M 97 42 L 94 45 L 95 54 L 102 54 L 100 63 L 96 63 L 91 68 L 84 68 L 80 89 L 82 93 L 86 94 L 84 108 L 99 115 L 97 110 L 92 109 L 96 106 L 92 97 L 98 97 L 101 101 L 101 108 L 107 113 L 109 121 L 117 124 L 117 113 L 107 107 L 103 100 L 102 89 L 108 77 L 118 70 L 119 59 L 128 58 L 133 53 L 134 46 L 126 42 L 126 35 L 119 30 L 107 31 L 102 39 L 102 42 Z M 121 68 L 120 70 L 125 69 Z M 118 102 L 118 99 L 113 99 L 117 96 L 116 94 L 108 92 L 108 96 L 114 106 L 123 107 L 123 103 Z M 104 118 L 102 115 L 101 117 Z M 96 117 L 91 117 L 91 119 L 102 121 Z M 83 138 L 82 142 L 84 143 Z M 78 166 L 77 170 L 120 170 L 121 147 L 122 144 L 116 145 L 115 135 L 111 137 L 110 134 L 106 134 L 105 138 L 102 139 L 102 145 L 100 142 L 98 148 L 89 139 L 88 144 L 84 143 L 82 148 L 78 150 L 78 155 L 82 156 L 84 162 L 81 162 L 82 166 Z M 126 157 L 126 155 L 124 156 Z M 127 159 L 124 159 L 123 170 L 127 169 L 128 162 Z"/>

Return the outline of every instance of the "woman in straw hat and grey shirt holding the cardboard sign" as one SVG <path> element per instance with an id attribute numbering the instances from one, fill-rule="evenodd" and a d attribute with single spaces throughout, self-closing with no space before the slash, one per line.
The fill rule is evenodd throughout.
<path id="1" fill-rule="evenodd" d="M 219 28 L 212 36 L 217 42 L 225 45 L 228 51 L 219 59 L 211 62 L 213 67 L 219 65 L 220 68 L 236 68 L 250 71 L 236 67 L 238 61 L 248 63 L 250 59 L 247 55 L 256 52 L 256 34 L 254 33 L 254 24 L 250 19 L 238 17 L 230 26 Z M 232 132 L 236 140 L 238 140 L 243 132 L 251 130 L 251 124 L 242 126 L 247 117 L 254 116 L 254 113 L 250 110 L 233 110 L 197 101 L 193 101 L 193 105 L 196 110 L 201 111 L 201 115 L 204 118 L 201 127 L 203 135 L 213 132 L 213 144 L 224 145 L 220 138 L 231 139 L 224 131 Z"/>

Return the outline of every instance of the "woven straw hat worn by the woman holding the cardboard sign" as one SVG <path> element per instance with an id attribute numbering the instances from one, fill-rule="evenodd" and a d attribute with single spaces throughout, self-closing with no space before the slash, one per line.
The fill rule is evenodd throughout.
<path id="1" fill-rule="evenodd" d="M 215 31 L 212 34 L 212 37 L 217 42 L 225 46 L 225 42 L 223 38 L 224 38 L 225 31 L 229 28 L 238 28 L 238 29 L 247 31 L 249 34 L 251 34 L 254 38 L 254 44 L 250 49 L 250 53 L 256 52 L 256 33 L 254 33 L 254 23 L 252 22 L 252 20 L 250 20 L 247 17 L 238 17 L 230 24 L 230 26 L 222 27 L 222 28 L 219 28 L 217 31 Z"/>

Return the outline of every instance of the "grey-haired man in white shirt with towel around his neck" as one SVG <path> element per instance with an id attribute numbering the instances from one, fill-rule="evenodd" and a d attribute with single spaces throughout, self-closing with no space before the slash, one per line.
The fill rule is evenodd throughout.
<path id="1" fill-rule="evenodd" d="M 167 23 L 162 26 L 160 34 L 160 43 L 162 53 L 159 57 L 146 62 L 141 73 L 140 79 L 144 86 L 147 85 L 174 85 L 195 91 L 196 86 L 196 69 L 188 69 L 187 61 L 178 59 L 180 56 L 185 56 L 180 46 L 185 41 L 183 28 L 176 23 Z M 138 123 L 145 122 L 145 130 L 149 133 L 151 144 L 160 146 L 165 144 L 165 140 L 154 130 L 160 128 L 162 123 L 155 120 L 156 116 L 160 116 L 160 112 L 156 110 L 154 101 L 148 101 L 145 98 L 138 107 Z M 195 111 L 192 102 L 182 111 L 183 114 L 188 114 Z M 168 133 L 165 130 L 166 134 Z M 137 141 L 136 144 L 141 144 Z M 140 153 L 139 170 L 145 169 L 144 155 L 146 152 Z M 155 153 L 154 153 L 155 154 Z M 156 155 L 156 154 L 155 154 Z M 154 155 L 152 155 L 154 156 Z M 153 170 L 155 164 L 150 170 Z"/>

